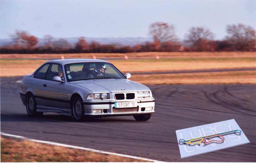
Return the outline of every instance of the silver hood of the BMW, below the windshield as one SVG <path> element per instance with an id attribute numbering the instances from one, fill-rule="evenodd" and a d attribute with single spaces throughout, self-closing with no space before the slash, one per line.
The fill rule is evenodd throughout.
<path id="1" fill-rule="evenodd" d="M 96 79 L 72 83 L 89 89 L 92 93 L 150 91 L 147 86 L 128 79 Z"/>

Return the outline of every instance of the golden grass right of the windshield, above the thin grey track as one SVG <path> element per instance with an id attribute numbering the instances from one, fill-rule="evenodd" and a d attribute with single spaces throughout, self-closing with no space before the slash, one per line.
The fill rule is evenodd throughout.
<path id="1" fill-rule="evenodd" d="M 122 72 L 256 67 L 255 58 L 175 58 L 110 60 Z"/>

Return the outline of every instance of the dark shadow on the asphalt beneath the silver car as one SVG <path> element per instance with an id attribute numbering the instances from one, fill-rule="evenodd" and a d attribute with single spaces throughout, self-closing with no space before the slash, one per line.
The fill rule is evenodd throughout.
<path id="1" fill-rule="evenodd" d="M 125 118 L 126 117 L 126 118 Z M 135 119 L 127 119 L 125 117 L 84 117 L 83 120 L 79 122 L 137 122 Z M 131 116 L 130 116 L 131 117 Z M 76 122 L 70 116 L 64 115 L 43 115 L 42 117 L 28 117 L 27 114 L 1 114 L 1 122 Z"/>

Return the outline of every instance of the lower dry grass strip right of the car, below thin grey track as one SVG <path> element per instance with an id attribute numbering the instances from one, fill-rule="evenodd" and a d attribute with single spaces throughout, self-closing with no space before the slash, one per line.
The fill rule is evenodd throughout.
<path id="1" fill-rule="evenodd" d="M 256 71 L 132 75 L 143 84 L 256 84 Z"/>

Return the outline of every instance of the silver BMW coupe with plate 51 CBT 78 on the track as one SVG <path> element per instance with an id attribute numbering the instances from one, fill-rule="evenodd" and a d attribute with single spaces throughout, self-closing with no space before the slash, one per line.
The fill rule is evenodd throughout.
<path id="1" fill-rule="evenodd" d="M 23 77 L 20 97 L 30 117 L 56 112 L 76 121 L 85 116 L 147 121 L 155 112 L 155 99 L 147 86 L 130 77 L 106 60 L 51 60 Z"/>

